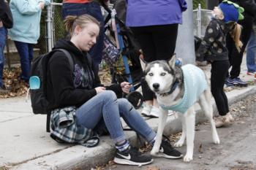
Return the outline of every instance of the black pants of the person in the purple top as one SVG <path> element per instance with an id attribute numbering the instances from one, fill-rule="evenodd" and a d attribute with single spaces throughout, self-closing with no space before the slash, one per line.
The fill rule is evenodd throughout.
<path id="1" fill-rule="evenodd" d="M 132 27 L 132 31 L 140 43 L 145 61 L 172 58 L 176 47 L 178 24 Z M 154 92 L 148 88 L 145 81 L 141 82 L 141 88 L 144 101 L 151 101 L 155 98 Z"/>

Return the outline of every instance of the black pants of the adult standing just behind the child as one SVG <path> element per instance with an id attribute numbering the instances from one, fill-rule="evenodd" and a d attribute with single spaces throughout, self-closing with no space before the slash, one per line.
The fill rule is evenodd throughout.
<path id="1" fill-rule="evenodd" d="M 230 71 L 231 79 L 239 77 L 244 50 L 249 41 L 249 36 L 252 32 L 252 18 L 244 18 L 244 20 L 241 20 L 238 23 L 243 26 L 243 29 L 241 31 L 241 42 L 243 42 L 243 46 L 241 47 L 240 53 L 236 49 L 235 42 L 231 38 L 230 34 L 227 34 L 228 58 L 230 60 L 230 66 L 232 66 L 232 69 Z M 228 73 L 227 77 L 229 77 Z"/>

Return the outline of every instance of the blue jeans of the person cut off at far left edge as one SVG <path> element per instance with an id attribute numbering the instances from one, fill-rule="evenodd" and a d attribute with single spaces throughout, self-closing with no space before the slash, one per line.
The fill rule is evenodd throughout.
<path id="1" fill-rule="evenodd" d="M 7 37 L 7 29 L 0 28 L 0 88 L 4 85 L 3 82 L 3 71 L 4 71 L 4 46 Z"/>

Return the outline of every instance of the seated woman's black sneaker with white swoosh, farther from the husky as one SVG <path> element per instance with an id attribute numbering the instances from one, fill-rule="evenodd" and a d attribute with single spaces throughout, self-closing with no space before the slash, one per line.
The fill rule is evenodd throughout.
<path id="1" fill-rule="evenodd" d="M 114 162 L 118 164 L 142 166 L 153 162 L 153 159 L 149 155 L 141 155 L 138 150 L 129 146 L 129 148 L 123 152 L 116 150 Z"/>

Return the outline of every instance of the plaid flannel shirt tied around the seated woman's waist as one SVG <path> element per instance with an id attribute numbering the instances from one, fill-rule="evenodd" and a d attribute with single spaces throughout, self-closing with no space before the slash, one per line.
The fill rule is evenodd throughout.
<path id="1" fill-rule="evenodd" d="M 91 129 L 75 123 L 75 107 L 54 109 L 50 115 L 51 134 L 67 143 L 94 147 L 99 143 L 99 136 Z"/>

